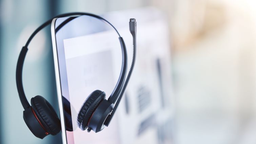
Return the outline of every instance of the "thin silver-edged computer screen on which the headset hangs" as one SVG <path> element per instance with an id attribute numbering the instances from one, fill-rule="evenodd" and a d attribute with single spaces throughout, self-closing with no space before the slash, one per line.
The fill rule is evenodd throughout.
<path id="1" fill-rule="evenodd" d="M 77 128 L 82 103 L 94 90 L 111 94 L 121 69 L 118 35 L 101 20 L 80 16 L 56 29 L 68 18 L 54 19 L 52 39 L 63 143 L 167 144 L 173 143 L 168 24 L 152 8 L 117 11 L 103 16 L 123 37 L 128 67 L 132 59 L 129 19 L 137 28 L 136 65 L 110 125 L 99 133 Z M 157 37 L 156 37 L 157 35 Z"/>

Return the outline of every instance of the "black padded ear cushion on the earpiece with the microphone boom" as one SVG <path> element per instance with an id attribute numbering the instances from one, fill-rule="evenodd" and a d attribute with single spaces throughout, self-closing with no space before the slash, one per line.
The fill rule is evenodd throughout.
<path id="1" fill-rule="evenodd" d="M 85 130 L 89 119 L 96 110 L 99 103 L 105 99 L 106 94 L 100 90 L 93 91 L 84 101 L 77 116 L 77 126 Z"/>

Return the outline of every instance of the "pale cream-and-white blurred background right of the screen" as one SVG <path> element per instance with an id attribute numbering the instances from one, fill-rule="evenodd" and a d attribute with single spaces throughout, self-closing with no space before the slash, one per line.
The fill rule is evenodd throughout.
<path id="1" fill-rule="evenodd" d="M 256 3 L 161 0 L 169 16 L 176 142 L 256 143 Z"/>

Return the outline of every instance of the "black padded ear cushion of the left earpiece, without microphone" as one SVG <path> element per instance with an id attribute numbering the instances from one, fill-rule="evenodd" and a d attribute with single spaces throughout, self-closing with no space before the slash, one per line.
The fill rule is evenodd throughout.
<path id="1" fill-rule="evenodd" d="M 49 134 L 56 135 L 60 132 L 60 120 L 53 106 L 46 99 L 35 96 L 31 98 L 31 106 Z"/>

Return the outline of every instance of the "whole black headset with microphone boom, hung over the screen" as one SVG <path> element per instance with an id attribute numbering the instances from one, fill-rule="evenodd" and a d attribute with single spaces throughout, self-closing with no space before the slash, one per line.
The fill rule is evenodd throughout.
<path id="1" fill-rule="evenodd" d="M 133 58 L 132 58 L 132 64 L 129 70 L 129 73 L 126 76 L 127 71 L 127 52 L 126 47 L 124 44 L 124 41 L 120 34 L 118 33 L 117 29 L 107 20 L 104 18 L 90 14 L 90 13 L 66 13 L 62 15 L 58 15 L 54 18 L 61 18 L 61 17 L 68 17 L 68 16 L 91 16 L 94 18 L 97 18 L 99 20 L 102 20 L 109 24 L 111 27 L 114 28 L 114 30 L 117 32 L 119 36 L 119 41 L 121 44 L 122 49 L 122 66 L 121 66 L 121 72 L 117 81 L 117 84 L 112 92 L 112 94 L 109 96 L 109 98 L 106 100 L 106 94 L 100 90 L 93 91 L 84 101 L 82 104 L 78 115 L 77 115 L 77 126 L 81 130 L 86 130 L 90 132 L 91 130 L 95 131 L 95 133 L 101 131 L 105 126 L 109 126 L 117 107 L 122 99 L 122 96 L 124 94 L 124 91 L 127 87 L 127 84 L 130 80 L 131 74 L 134 69 L 135 65 L 135 59 L 136 59 L 136 31 L 137 31 L 137 23 L 135 19 L 130 19 L 129 22 L 129 29 L 133 37 Z M 25 60 L 26 53 L 28 51 L 28 45 L 31 42 L 31 40 L 34 38 L 34 36 L 44 27 L 51 24 L 52 20 L 50 19 L 43 23 L 41 26 L 39 26 L 29 37 L 27 40 L 25 46 L 22 47 L 21 52 L 19 54 L 18 62 L 17 62 L 17 68 L 16 68 L 16 84 L 17 89 L 19 93 L 19 98 L 21 101 L 21 104 L 24 108 L 23 111 L 23 119 L 28 126 L 28 128 L 31 130 L 31 132 L 38 138 L 43 139 L 47 135 L 57 135 L 59 131 L 61 130 L 61 123 L 60 120 L 56 114 L 56 112 L 53 109 L 53 106 L 42 96 L 35 96 L 31 98 L 31 105 L 28 103 L 27 98 L 24 93 L 23 84 L 22 84 L 22 69 L 23 64 Z M 71 20 L 75 19 L 76 17 L 70 17 L 66 19 L 64 22 L 62 22 L 56 29 L 55 33 L 58 32 L 59 29 L 61 29 L 66 23 L 70 22 Z M 126 77 L 126 79 L 125 79 Z M 62 96 L 63 103 L 67 103 L 67 107 L 70 108 L 70 103 L 64 99 Z M 114 105 L 115 104 L 115 105 Z M 64 110 L 65 111 L 65 110 Z M 68 110 L 67 110 L 68 111 Z M 65 119 L 66 119 L 66 113 Z M 67 126 L 66 129 L 69 131 L 72 131 L 72 126 Z"/>

